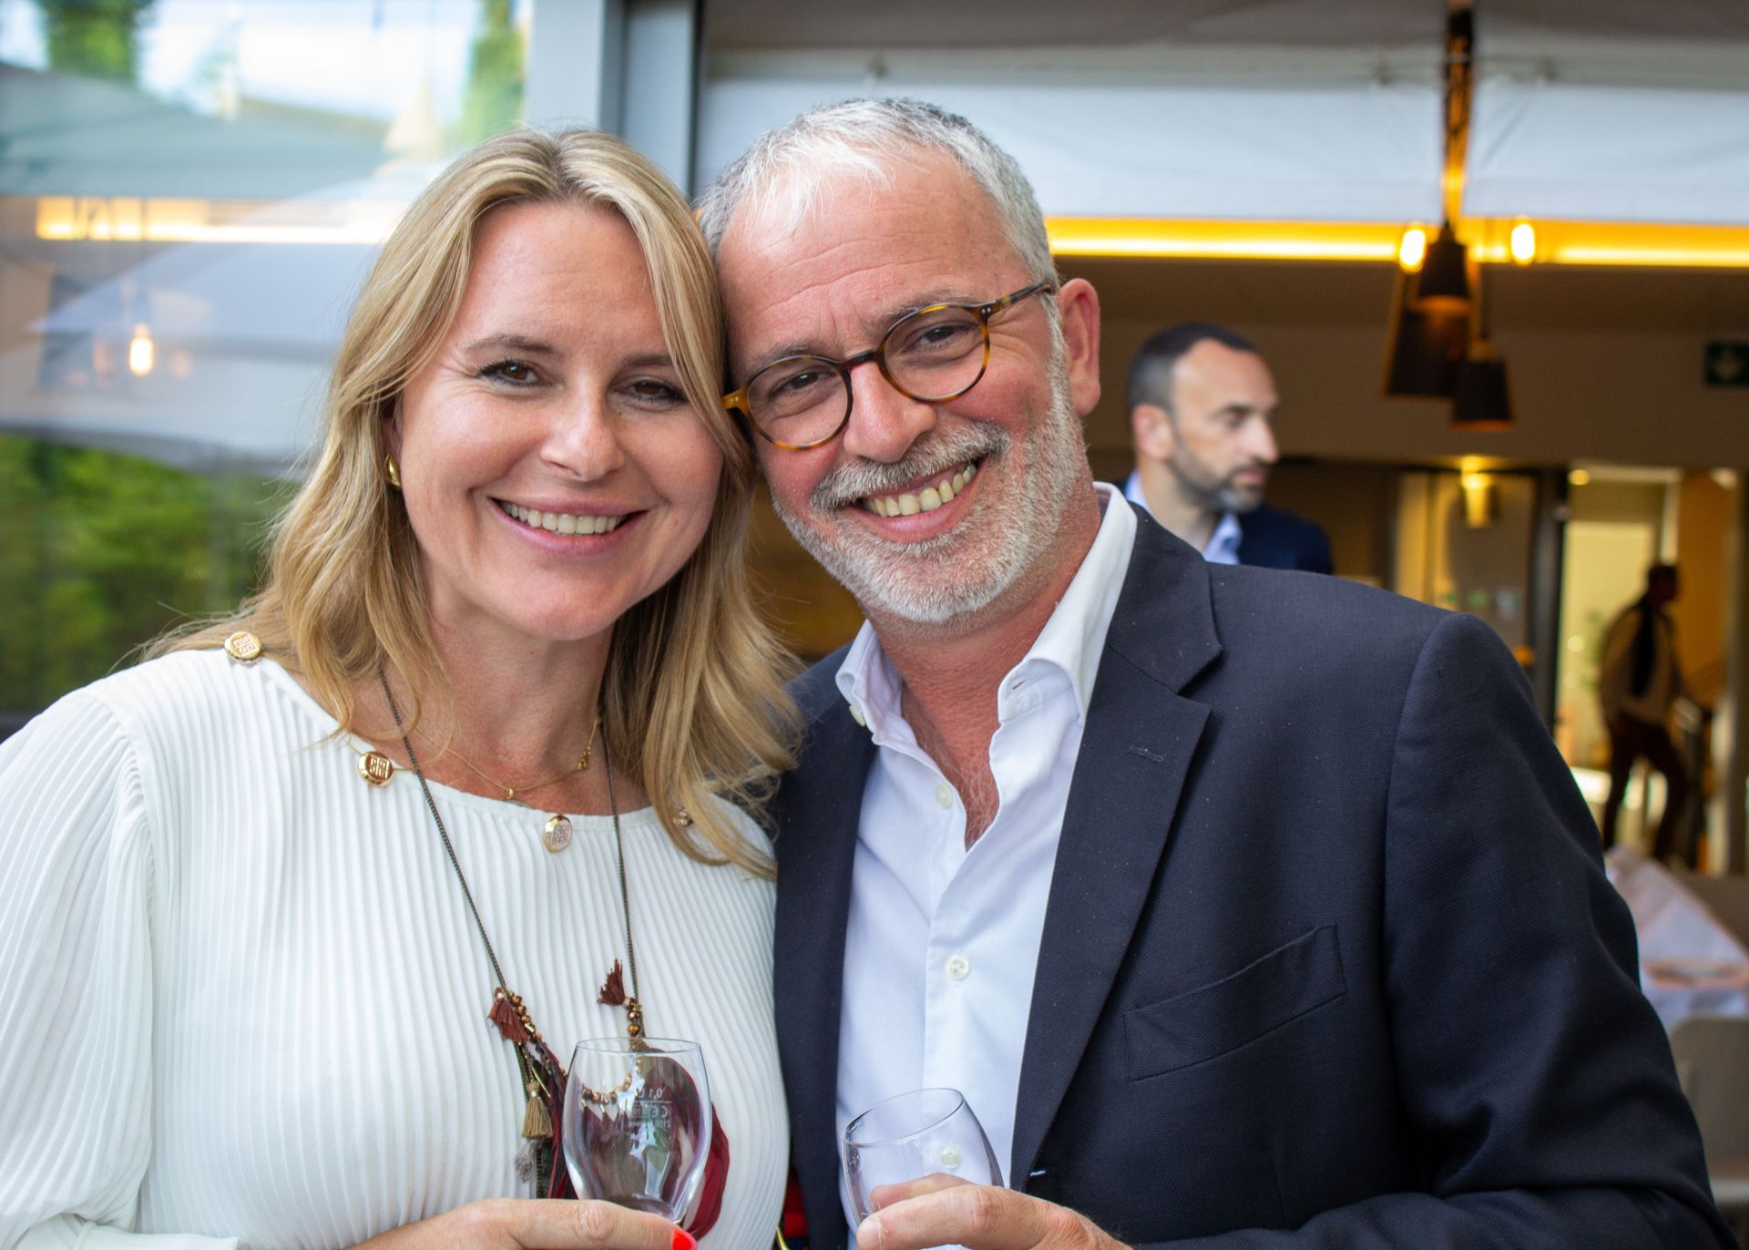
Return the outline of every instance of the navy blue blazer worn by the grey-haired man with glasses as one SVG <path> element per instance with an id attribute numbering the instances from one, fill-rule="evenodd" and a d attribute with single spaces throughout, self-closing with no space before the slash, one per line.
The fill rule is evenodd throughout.
<path id="1" fill-rule="evenodd" d="M 1009 1184 L 1139 1247 L 1733 1247 L 1597 829 L 1499 638 L 1139 526 Z M 778 1045 L 819 1250 L 848 1236 L 838 1019 L 874 755 L 840 661 L 798 682 L 775 806 Z"/>

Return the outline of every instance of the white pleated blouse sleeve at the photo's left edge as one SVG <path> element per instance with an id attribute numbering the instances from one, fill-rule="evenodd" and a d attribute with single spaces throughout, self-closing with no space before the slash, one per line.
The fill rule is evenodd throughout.
<path id="1" fill-rule="evenodd" d="M 152 822 L 75 692 L 0 743 L 0 1250 L 219 1250 L 133 1231 L 152 1152 Z"/>

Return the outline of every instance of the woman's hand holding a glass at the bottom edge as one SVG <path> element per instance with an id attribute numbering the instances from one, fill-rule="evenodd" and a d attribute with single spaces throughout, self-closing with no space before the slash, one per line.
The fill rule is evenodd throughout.
<path id="1" fill-rule="evenodd" d="M 402 1224 L 359 1250 L 694 1250 L 698 1240 L 659 1215 L 614 1203 L 488 1198 Z"/>

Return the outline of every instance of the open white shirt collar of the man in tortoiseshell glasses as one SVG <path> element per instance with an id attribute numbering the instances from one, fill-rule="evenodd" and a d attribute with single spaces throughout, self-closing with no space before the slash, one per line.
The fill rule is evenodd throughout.
<path id="1" fill-rule="evenodd" d="M 1118 596 L 1130 570 L 1130 549 L 1135 545 L 1135 512 L 1123 507 L 1118 491 L 1105 483 L 1095 483 L 1093 488 L 1104 510 L 1093 545 L 1088 547 L 1051 619 L 1013 668 L 1018 673 L 1028 666 L 1048 664 L 1062 671 L 1074 689 L 1083 720 L 1093 701 L 1093 680 L 1098 677 L 1105 631 L 1118 612 Z M 899 694 L 904 682 L 868 621 L 862 622 L 845 661 L 838 666 L 836 680 L 840 694 L 850 705 L 850 715 L 866 724 L 876 740 L 890 738 L 894 726 L 902 724 Z M 888 733 L 883 734 L 883 729 Z M 909 733 L 904 736 L 909 738 Z"/>

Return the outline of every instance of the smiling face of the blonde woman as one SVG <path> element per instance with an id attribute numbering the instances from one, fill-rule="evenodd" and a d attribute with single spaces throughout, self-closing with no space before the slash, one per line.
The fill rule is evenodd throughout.
<path id="1" fill-rule="evenodd" d="M 603 635 L 698 547 L 722 470 L 631 227 L 579 205 L 486 213 L 388 446 L 432 621 L 483 645 Z"/>

